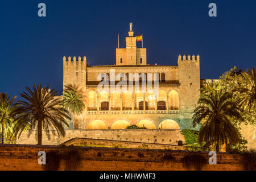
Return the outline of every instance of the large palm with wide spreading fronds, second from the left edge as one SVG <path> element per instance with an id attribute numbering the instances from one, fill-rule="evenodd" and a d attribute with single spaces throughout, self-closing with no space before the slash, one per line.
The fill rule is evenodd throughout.
<path id="1" fill-rule="evenodd" d="M 42 131 L 46 132 L 47 138 L 50 139 L 50 130 L 52 134 L 65 136 L 65 130 L 63 123 L 68 126 L 65 118 L 71 119 L 68 110 L 61 107 L 63 104 L 60 97 L 57 96 L 57 92 L 54 89 L 49 89 L 49 86 L 42 88 L 42 85 L 36 86 L 34 84 L 32 90 L 28 87 L 25 88 L 27 92 L 20 94 L 24 101 L 18 101 L 20 121 L 16 124 L 16 131 L 18 131 L 18 137 L 26 130 L 28 123 L 31 124 L 29 135 L 33 129 L 36 129 L 36 139 L 38 145 L 42 145 Z"/>

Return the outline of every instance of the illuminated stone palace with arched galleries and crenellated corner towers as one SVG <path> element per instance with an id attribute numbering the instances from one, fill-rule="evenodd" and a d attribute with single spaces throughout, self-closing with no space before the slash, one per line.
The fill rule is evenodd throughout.
<path id="1" fill-rule="evenodd" d="M 71 129 L 125 129 L 129 125 L 145 126 L 147 129 L 189 129 L 192 128 L 192 114 L 200 96 L 200 57 L 179 56 L 177 65 L 147 64 L 146 48 L 137 48 L 136 38 L 130 29 L 126 48 L 116 49 L 114 65 L 89 66 L 86 57 L 78 59 L 63 57 L 63 85 L 77 84 L 83 91 L 86 106 L 81 115 L 75 116 Z M 109 76 L 114 69 L 115 76 L 124 73 L 158 73 L 159 92 L 140 90 L 109 90 L 98 92 L 100 75 Z M 104 76 L 103 76 L 104 77 Z M 154 78 L 154 76 L 153 76 Z M 116 80 L 117 84 L 120 80 Z M 153 79 L 154 82 L 154 79 Z M 154 85 L 153 85 L 154 88 Z M 72 126 L 73 124 L 73 126 Z"/>

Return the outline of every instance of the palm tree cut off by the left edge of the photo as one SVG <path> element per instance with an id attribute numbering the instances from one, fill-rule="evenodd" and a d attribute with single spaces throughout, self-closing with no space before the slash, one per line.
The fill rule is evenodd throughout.
<path id="1" fill-rule="evenodd" d="M 2 143 L 6 143 L 6 125 L 10 122 L 15 122 L 16 106 L 14 100 L 16 97 L 10 99 L 7 93 L 0 93 L 0 123 L 2 125 Z"/>

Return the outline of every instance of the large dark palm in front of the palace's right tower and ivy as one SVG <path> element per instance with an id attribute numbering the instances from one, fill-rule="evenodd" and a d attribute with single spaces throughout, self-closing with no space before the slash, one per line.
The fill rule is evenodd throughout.
<path id="1" fill-rule="evenodd" d="M 232 101 L 232 93 L 216 89 L 202 94 L 198 104 L 192 119 L 193 127 L 201 123 L 199 143 L 215 143 L 216 151 L 220 150 L 220 144 L 238 143 L 240 138 L 231 121 L 243 118 L 236 102 Z"/>

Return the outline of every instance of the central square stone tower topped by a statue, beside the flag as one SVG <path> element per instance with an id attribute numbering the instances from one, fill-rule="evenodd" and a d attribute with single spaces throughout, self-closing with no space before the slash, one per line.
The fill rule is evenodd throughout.
<path id="1" fill-rule="evenodd" d="M 126 48 L 116 49 L 116 65 L 146 65 L 146 48 L 137 48 L 136 37 L 132 30 L 133 23 L 130 23 L 129 36 L 126 37 Z"/>

